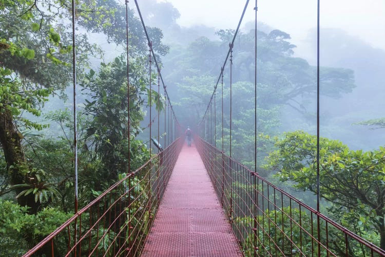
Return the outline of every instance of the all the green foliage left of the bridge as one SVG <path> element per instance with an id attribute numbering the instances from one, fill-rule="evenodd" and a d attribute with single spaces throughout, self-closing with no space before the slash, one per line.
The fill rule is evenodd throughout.
<path id="1" fill-rule="evenodd" d="M 6 140 L 15 142 L 12 146 L 20 154 L 14 160 L 16 165 L 6 158 L 10 154 L 1 142 L 4 155 L 0 156 L 0 193 L 6 194 L 7 198 L 16 196 L 23 206 L 31 207 L 1 203 L 0 229 L 3 230 L 0 232 L 0 247 L 7 248 L 4 252 L 8 256 L 23 254 L 69 218 L 71 215 L 66 213 L 73 210 L 72 114 L 63 109 L 45 115 L 53 125 L 57 125 L 53 128 L 53 135 L 47 130 L 47 125 L 25 116 L 28 112 L 39 117 L 49 97 L 61 94 L 60 90 L 72 82 L 70 4 L 67 0 L 0 0 L 0 114 L 6 114 L 8 118 L 0 128 L 14 128 L 8 131 L 8 135 L 13 133 L 16 136 Z M 92 32 L 104 32 L 117 44 L 125 43 L 125 8 L 120 3 L 80 0 L 76 1 L 76 7 L 78 26 Z M 127 171 L 128 158 L 132 170 L 148 160 L 146 145 L 136 139 L 142 132 L 140 122 L 145 115 L 142 108 L 148 103 L 155 105 L 157 111 L 164 108 L 164 97 L 156 90 L 150 92 L 147 89 L 146 59 L 141 58 L 142 53 L 147 53 L 147 44 L 140 21 L 132 10 L 129 10 L 129 19 L 130 54 L 134 59 L 129 74 L 130 131 L 127 126 L 125 56 L 108 64 L 102 63 L 98 71 L 89 69 L 85 74 L 88 58 L 100 57 L 102 52 L 98 45 L 89 42 L 82 30 L 76 31 L 76 73 L 85 93 L 83 97 L 86 97 L 84 100 L 80 97 L 83 103 L 78 115 L 79 206 L 85 206 L 118 177 L 130 172 Z M 148 28 L 148 31 L 157 53 L 167 53 L 168 47 L 161 42 L 162 32 L 158 28 Z M 151 79 L 155 84 L 156 78 Z M 33 130 L 42 133 L 36 134 Z M 128 197 L 146 197 L 141 192 L 141 181 L 139 178 L 132 180 L 137 186 Z M 4 207 L 3 203 L 7 206 Z M 136 208 L 142 207 L 138 205 Z M 148 222 L 149 212 L 145 212 Z M 94 217 L 85 215 L 84 222 L 91 218 Z M 137 222 L 139 220 L 138 217 Z M 103 227 L 99 230 L 107 231 Z M 90 236 L 94 236 L 94 232 Z M 108 234 L 113 236 L 113 231 L 108 231 Z M 98 241 L 100 235 L 92 237 L 92 240 Z M 59 235 L 56 240 L 58 248 L 55 251 L 60 255 L 59 242 L 66 246 L 65 238 Z M 101 249 L 105 250 L 110 240 L 111 237 L 105 237 Z"/>

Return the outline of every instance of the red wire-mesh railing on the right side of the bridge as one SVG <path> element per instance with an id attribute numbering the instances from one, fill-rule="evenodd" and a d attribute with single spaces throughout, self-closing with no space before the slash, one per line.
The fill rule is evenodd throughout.
<path id="1" fill-rule="evenodd" d="M 385 256 L 213 145 L 195 142 L 245 256 Z"/>

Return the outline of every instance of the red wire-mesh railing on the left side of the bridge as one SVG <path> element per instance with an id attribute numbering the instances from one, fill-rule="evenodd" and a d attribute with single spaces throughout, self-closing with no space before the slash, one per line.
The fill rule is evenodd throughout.
<path id="1" fill-rule="evenodd" d="M 140 255 L 182 144 L 178 138 L 24 256 Z"/>

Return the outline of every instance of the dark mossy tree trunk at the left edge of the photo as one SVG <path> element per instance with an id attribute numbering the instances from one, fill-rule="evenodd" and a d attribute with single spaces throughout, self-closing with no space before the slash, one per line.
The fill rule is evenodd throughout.
<path id="1" fill-rule="evenodd" d="M 23 136 L 16 130 L 11 113 L 8 109 L 0 107 L 0 143 L 3 147 L 7 169 L 11 173 L 11 185 L 26 182 L 26 177 L 21 172 L 22 169 L 28 169 L 24 157 L 22 139 Z M 17 189 L 16 193 L 21 191 L 23 189 Z M 36 213 L 40 207 L 40 203 L 35 203 L 32 194 L 19 197 L 17 202 L 21 206 L 30 207 L 30 213 Z"/>

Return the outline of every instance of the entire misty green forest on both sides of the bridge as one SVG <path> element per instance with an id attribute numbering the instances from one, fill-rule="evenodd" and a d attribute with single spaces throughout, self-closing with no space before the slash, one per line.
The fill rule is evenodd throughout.
<path id="1" fill-rule="evenodd" d="M 0 249 L 7 248 L 0 256 L 25 253 L 72 216 L 75 201 L 70 8 L 37 2 L 31 9 L 25 0 L 0 4 Z M 125 6 L 91 2 L 98 11 L 76 18 L 80 206 L 159 152 L 150 126 L 164 148 L 190 126 L 219 150 L 223 140 L 229 154 L 228 63 L 215 95 L 216 120 L 213 112 L 204 115 L 237 24 L 181 26 L 171 3 L 140 1 L 181 124 L 182 133 L 173 127 L 170 134 L 163 130 L 169 105 L 162 85 L 158 94 L 156 67 L 149 78 L 147 39 L 130 3 L 128 128 Z M 241 26 L 232 71 L 231 157 L 252 170 L 254 26 Z M 257 27 L 257 172 L 315 208 L 316 27 L 297 42 L 292 31 L 263 20 Z M 338 26 L 321 25 L 320 34 L 321 212 L 385 249 L 385 49 Z"/>

